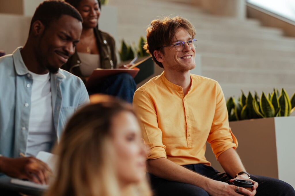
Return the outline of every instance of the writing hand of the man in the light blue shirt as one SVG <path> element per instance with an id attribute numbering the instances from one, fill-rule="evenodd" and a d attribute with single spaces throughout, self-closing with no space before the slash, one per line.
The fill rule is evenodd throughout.
<path id="1" fill-rule="evenodd" d="M 38 184 L 48 184 L 50 174 L 52 173 L 46 163 L 34 157 L 1 157 L 0 172 Z"/>

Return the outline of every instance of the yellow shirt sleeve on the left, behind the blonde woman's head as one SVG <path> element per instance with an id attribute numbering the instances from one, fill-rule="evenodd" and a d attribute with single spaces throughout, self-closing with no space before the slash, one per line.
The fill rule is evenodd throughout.
<path id="1" fill-rule="evenodd" d="M 136 91 L 133 98 L 133 106 L 140 118 L 142 136 L 148 146 L 148 159 L 167 158 L 162 143 L 162 131 L 158 127 L 155 104 L 144 91 Z"/>

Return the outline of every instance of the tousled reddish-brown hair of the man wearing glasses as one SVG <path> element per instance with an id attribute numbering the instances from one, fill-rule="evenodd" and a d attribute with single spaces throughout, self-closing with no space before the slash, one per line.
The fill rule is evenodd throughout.
<path id="1" fill-rule="evenodd" d="M 194 38 L 196 35 L 196 29 L 191 24 L 191 22 L 180 16 L 173 18 L 165 17 L 163 19 L 153 20 L 146 30 L 147 42 L 143 48 L 145 51 L 147 51 L 147 53 L 153 56 L 153 60 L 161 68 L 163 68 L 163 65 L 155 58 L 154 51 L 160 50 L 162 53 L 164 53 L 162 46 L 172 44 L 171 42 L 177 29 L 179 28 L 185 29 L 192 38 Z"/>

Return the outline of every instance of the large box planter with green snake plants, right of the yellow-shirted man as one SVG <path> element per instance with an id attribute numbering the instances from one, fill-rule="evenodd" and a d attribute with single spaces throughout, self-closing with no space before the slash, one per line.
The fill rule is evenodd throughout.
<path id="1" fill-rule="evenodd" d="M 237 152 L 249 173 L 278 178 L 295 187 L 295 93 L 289 99 L 284 89 L 251 92 L 227 100 L 230 128 L 238 140 Z M 207 145 L 207 148 L 209 145 Z M 213 153 L 206 158 L 222 170 Z"/>

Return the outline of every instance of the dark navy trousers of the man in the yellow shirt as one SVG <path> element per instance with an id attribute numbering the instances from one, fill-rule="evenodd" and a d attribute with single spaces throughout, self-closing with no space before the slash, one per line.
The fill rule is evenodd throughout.
<path id="1" fill-rule="evenodd" d="M 222 182 L 229 182 L 232 177 L 226 173 L 220 173 L 213 167 L 203 164 L 184 165 L 183 167 L 198 172 L 201 175 Z M 291 174 L 290 174 L 291 175 Z M 251 179 L 258 182 L 256 195 L 273 196 L 294 196 L 294 188 L 286 182 L 271 177 L 251 175 Z M 154 196 L 208 196 L 209 194 L 202 188 L 195 185 L 174 182 L 162 179 L 150 174 L 150 180 Z"/>

